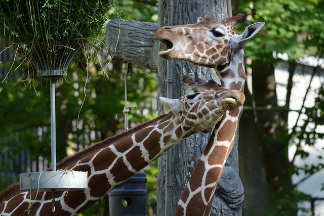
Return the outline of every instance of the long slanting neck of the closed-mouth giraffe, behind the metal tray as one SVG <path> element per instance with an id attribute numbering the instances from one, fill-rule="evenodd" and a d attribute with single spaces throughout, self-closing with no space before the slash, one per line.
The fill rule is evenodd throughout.
<path id="1" fill-rule="evenodd" d="M 88 189 L 82 191 L 57 192 L 55 215 L 71 215 L 82 212 L 91 204 L 105 196 L 113 187 L 123 183 L 136 172 L 155 160 L 172 146 L 188 137 L 192 132 L 184 131 L 180 118 L 167 114 L 152 120 L 144 128 L 126 133 L 111 143 L 109 139 L 97 143 L 98 151 L 91 152 L 77 160 L 67 158 L 58 165 L 66 169 L 88 172 Z M 80 154 L 78 154 L 80 155 Z M 16 185 L 17 187 L 17 185 Z M 19 185 L 18 185 L 19 187 Z M 19 192 L 0 203 L 0 215 L 27 215 L 31 201 L 31 215 L 52 214 L 51 192 Z M 31 195 L 31 198 L 30 198 Z M 17 207 L 17 203 L 21 203 Z M 54 213 L 53 213 L 54 214 Z"/>

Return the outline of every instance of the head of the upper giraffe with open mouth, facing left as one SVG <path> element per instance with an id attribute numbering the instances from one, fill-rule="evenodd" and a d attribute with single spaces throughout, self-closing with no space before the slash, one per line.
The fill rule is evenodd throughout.
<path id="1" fill-rule="evenodd" d="M 265 24 L 249 25 L 241 34 L 235 33 L 238 22 L 245 21 L 245 15 L 238 14 L 221 21 L 212 17 L 198 18 L 196 24 L 166 26 L 156 31 L 154 40 L 167 46 L 159 55 L 165 59 L 178 59 L 193 65 L 215 67 L 227 65 L 235 50 L 242 50 L 249 40 Z"/>

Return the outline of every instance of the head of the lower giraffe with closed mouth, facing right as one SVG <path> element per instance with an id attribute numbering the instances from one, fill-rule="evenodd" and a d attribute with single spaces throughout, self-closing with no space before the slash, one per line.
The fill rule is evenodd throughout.
<path id="1" fill-rule="evenodd" d="M 226 110 L 242 106 L 245 95 L 237 90 L 221 88 L 214 81 L 195 82 L 189 75 L 183 77 L 186 94 L 180 99 L 160 97 L 165 113 L 179 117 L 185 130 L 192 133 L 209 132 Z"/>

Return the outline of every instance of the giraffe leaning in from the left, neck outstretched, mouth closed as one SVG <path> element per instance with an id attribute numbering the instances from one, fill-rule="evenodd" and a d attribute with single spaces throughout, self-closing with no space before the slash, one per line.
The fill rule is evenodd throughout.
<path id="1" fill-rule="evenodd" d="M 241 92 L 220 88 L 214 81 L 197 84 L 187 75 L 183 81 L 187 90 L 180 99 L 160 97 L 165 114 L 57 164 L 58 169 L 87 171 L 88 189 L 56 192 L 53 213 L 52 192 L 20 192 L 16 183 L 0 195 L 0 215 L 80 213 L 181 140 L 211 131 L 226 110 L 245 101 Z"/>

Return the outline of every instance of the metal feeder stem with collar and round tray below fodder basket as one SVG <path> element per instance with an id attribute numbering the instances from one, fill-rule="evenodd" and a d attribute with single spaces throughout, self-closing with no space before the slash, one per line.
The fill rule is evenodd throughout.
<path id="1" fill-rule="evenodd" d="M 55 81 L 66 75 L 64 70 L 38 70 L 37 76 L 50 78 L 51 97 L 51 150 L 52 171 L 25 172 L 20 174 L 21 191 L 72 191 L 88 188 L 88 172 L 56 170 L 56 118 L 55 118 Z"/>

